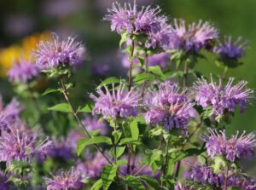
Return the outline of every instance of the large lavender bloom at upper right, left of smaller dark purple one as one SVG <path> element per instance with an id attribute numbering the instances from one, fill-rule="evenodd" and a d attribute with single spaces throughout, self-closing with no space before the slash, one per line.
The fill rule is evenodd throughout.
<path id="1" fill-rule="evenodd" d="M 218 38 L 218 29 L 209 22 L 199 20 L 198 24 L 192 23 L 188 27 L 184 20 L 174 20 L 170 49 L 183 49 L 199 53 L 201 48 L 208 49 L 211 41 Z"/>

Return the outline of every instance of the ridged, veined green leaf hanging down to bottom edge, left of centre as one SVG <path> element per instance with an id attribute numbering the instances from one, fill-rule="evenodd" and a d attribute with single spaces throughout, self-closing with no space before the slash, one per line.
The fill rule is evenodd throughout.
<path id="1" fill-rule="evenodd" d="M 116 175 L 117 170 L 118 170 L 118 166 L 115 164 L 106 165 L 103 168 L 103 170 L 102 170 L 103 190 L 108 190 L 108 187 L 113 182 L 113 178 Z"/>

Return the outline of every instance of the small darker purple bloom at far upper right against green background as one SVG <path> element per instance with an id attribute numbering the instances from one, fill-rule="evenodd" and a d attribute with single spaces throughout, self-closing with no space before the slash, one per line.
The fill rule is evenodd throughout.
<path id="1" fill-rule="evenodd" d="M 231 37 L 225 37 L 224 43 L 219 43 L 218 46 L 213 49 L 213 52 L 223 58 L 237 60 L 245 55 L 246 48 L 247 42 L 241 43 L 241 37 L 238 37 L 235 42 L 232 42 Z"/>

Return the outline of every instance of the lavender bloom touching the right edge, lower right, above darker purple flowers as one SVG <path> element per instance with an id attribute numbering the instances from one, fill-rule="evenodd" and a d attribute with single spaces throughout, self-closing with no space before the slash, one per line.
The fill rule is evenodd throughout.
<path id="1" fill-rule="evenodd" d="M 210 135 L 205 139 L 207 153 L 214 157 L 223 155 L 226 159 L 234 162 L 236 158 L 253 158 L 253 147 L 256 147 L 256 139 L 253 133 L 245 135 L 245 131 L 239 135 L 226 138 L 225 131 L 209 130 Z"/>

